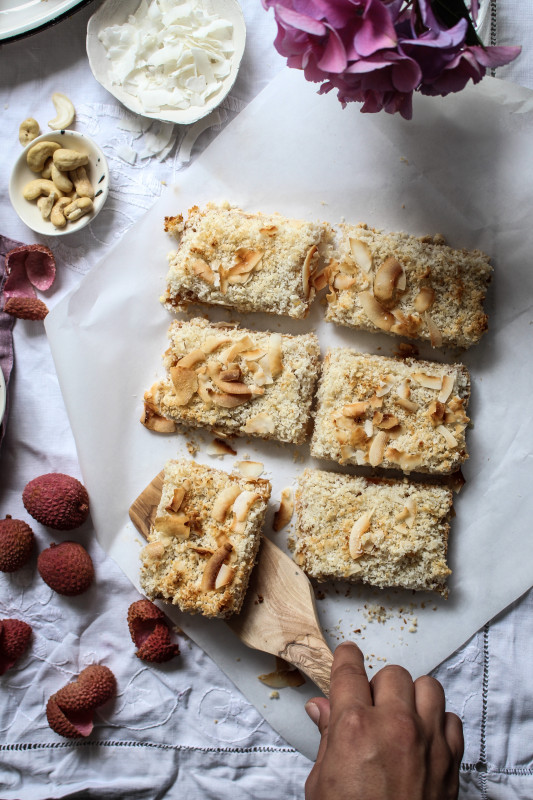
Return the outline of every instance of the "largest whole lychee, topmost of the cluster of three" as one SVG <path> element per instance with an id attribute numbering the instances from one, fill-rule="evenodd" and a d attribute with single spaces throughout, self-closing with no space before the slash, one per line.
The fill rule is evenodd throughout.
<path id="1" fill-rule="evenodd" d="M 89 516 L 87 489 L 62 472 L 40 475 L 27 483 L 22 502 L 37 522 L 57 531 L 79 528 Z"/>

